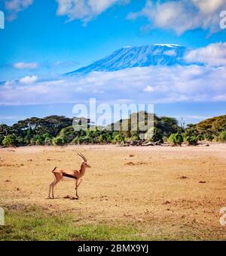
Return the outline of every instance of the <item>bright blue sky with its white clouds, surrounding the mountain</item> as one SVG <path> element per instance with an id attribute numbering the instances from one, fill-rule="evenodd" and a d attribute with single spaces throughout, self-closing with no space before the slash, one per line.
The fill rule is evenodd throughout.
<path id="1" fill-rule="evenodd" d="M 107 80 L 109 85 L 98 89 L 100 95 L 98 90 L 90 90 L 97 84 L 87 85 L 87 80 L 74 82 L 73 88 L 65 90 L 67 82 L 59 76 L 118 48 L 152 43 L 183 45 L 191 50 L 190 57 L 202 60 L 205 67 L 165 70 L 164 81 L 167 74 L 176 78 L 169 83 L 175 90 L 170 97 L 145 92 L 150 83 L 160 88 L 150 75 L 150 81 L 140 85 L 139 100 L 155 103 L 159 115 L 183 116 L 188 122 L 225 114 L 226 29 L 219 26 L 219 14 L 226 10 L 224 0 L 1 0 L 0 10 L 5 13 L 5 29 L 0 30 L 0 122 L 12 124 L 50 114 L 72 116 L 73 104 L 90 97 L 105 103 L 135 102 L 137 85 L 127 83 L 124 90 L 114 91 Z M 143 72 L 145 69 L 140 76 Z M 123 75 L 125 79 L 129 76 Z M 118 73 L 115 77 L 117 81 Z M 179 88 L 177 79 L 188 79 L 188 88 Z M 193 85 L 191 93 L 185 91 Z M 112 86 L 111 90 L 106 86 Z M 124 93 L 126 89 L 129 94 Z"/>

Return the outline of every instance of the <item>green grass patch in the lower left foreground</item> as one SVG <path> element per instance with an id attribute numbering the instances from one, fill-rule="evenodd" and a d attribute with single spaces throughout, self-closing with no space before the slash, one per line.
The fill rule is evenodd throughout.
<path id="1" fill-rule="evenodd" d="M 72 215 L 47 213 L 43 208 L 7 209 L 0 240 L 142 240 L 139 230 L 106 224 L 79 224 Z"/>

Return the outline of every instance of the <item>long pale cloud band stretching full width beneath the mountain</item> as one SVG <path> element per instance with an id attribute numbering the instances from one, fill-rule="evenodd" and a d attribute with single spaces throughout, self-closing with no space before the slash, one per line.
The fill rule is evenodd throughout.
<path id="1" fill-rule="evenodd" d="M 0 104 L 76 103 L 90 97 L 105 103 L 119 98 L 135 103 L 226 101 L 226 67 L 149 66 L 93 72 L 79 79 L 37 79 L 27 76 L 3 86 Z"/>

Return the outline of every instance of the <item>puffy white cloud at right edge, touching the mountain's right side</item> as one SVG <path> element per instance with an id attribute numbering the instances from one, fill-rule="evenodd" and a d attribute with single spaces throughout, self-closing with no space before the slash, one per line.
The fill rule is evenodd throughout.
<path id="1" fill-rule="evenodd" d="M 226 43 L 215 43 L 189 51 L 185 55 L 185 60 L 206 63 L 210 66 L 226 66 Z"/>

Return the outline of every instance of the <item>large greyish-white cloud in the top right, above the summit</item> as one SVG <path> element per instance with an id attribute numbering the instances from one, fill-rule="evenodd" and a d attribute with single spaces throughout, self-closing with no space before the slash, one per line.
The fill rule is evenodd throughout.
<path id="1" fill-rule="evenodd" d="M 210 32 L 220 30 L 219 14 L 225 10 L 225 0 L 179 0 L 152 2 L 147 0 L 145 8 L 130 13 L 129 19 L 147 17 L 149 28 L 173 29 L 178 35 L 192 29 L 205 29 Z"/>

